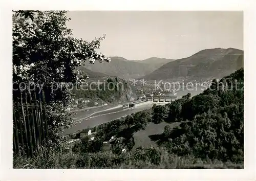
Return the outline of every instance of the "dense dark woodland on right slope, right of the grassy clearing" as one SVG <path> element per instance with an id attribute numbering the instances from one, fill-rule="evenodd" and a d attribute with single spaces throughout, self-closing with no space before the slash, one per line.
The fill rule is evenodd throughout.
<path id="1" fill-rule="evenodd" d="M 169 105 L 169 122 L 184 119 L 179 128 L 164 128 L 165 145 L 178 155 L 194 154 L 202 159 L 243 162 L 244 99 L 243 69 L 214 80 L 211 89 L 192 99 Z M 239 84 L 237 84 L 239 80 Z M 227 83 L 226 86 L 223 83 Z M 237 88 L 232 88 L 236 83 Z"/>

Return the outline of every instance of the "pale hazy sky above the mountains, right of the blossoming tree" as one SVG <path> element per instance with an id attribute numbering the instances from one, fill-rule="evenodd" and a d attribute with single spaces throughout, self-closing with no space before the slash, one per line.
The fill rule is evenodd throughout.
<path id="1" fill-rule="evenodd" d="M 100 48 L 106 56 L 179 59 L 203 49 L 243 50 L 243 12 L 70 11 L 68 16 L 74 37 L 106 34 Z"/>

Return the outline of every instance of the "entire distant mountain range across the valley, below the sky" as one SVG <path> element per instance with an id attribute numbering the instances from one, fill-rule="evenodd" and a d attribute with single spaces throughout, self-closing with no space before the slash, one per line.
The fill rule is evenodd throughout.
<path id="1" fill-rule="evenodd" d="M 84 70 L 93 75 L 89 75 L 90 77 L 96 78 L 117 76 L 166 80 L 223 77 L 243 67 L 243 50 L 234 48 L 204 49 L 189 57 L 176 60 L 159 57 L 150 57 L 144 60 L 127 60 L 120 56 L 111 56 L 110 58 L 110 63 L 95 62 L 94 65 L 83 66 Z"/>

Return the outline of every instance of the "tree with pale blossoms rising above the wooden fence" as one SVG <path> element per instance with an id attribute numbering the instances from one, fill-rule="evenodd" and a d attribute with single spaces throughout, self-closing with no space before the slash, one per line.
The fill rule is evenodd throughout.
<path id="1" fill-rule="evenodd" d="M 66 11 L 17 11 L 13 15 L 13 82 L 22 88 L 42 87 L 47 102 L 49 138 L 52 148 L 63 139 L 59 134 L 71 125 L 65 110 L 70 104 L 69 88 L 86 81 L 77 67 L 110 58 L 98 53 L 100 38 L 89 42 L 71 37 L 72 30 Z M 26 85 L 26 87 L 25 87 Z M 13 101 L 18 101 L 18 91 L 13 91 Z"/>

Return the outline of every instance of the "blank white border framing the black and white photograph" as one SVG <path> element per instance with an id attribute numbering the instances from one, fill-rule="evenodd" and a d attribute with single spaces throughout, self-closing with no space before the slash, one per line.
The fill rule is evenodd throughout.
<path id="1" fill-rule="evenodd" d="M 253 0 L 188 1 L 6 1 L 0 11 L 0 180 L 254 180 L 256 3 Z M 12 168 L 12 10 L 244 11 L 244 169 L 13 169 Z M 221 26 L 221 25 L 220 25 Z M 230 30 L 232 31 L 232 30 Z"/>

